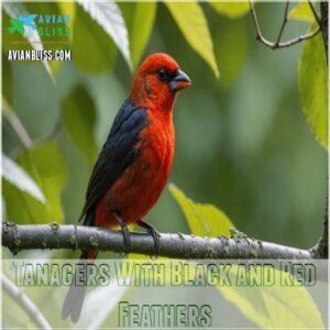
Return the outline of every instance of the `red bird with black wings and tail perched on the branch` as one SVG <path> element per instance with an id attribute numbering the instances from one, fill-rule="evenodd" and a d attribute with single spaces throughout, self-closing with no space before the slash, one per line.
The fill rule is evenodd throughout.
<path id="1" fill-rule="evenodd" d="M 94 166 L 80 216 L 84 226 L 121 227 L 129 253 L 128 224 L 147 230 L 160 248 L 160 233 L 143 218 L 158 200 L 170 173 L 175 150 L 173 110 L 177 92 L 191 85 L 177 62 L 154 53 L 139 67 L 128 99 L 118 111 Z M 82 251 L 80 260 L 95 260 L 98 251 Z M 70 286 L 62 318 L 77 322 L 85 286 Z"/>

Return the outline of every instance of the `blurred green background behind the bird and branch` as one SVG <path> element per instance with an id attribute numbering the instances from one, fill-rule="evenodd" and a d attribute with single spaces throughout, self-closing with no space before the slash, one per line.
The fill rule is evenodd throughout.
<path id="1" fill-rule="evenodd" d="M 135 7 L 119 4 L 130 37 L 139 38 L 136 31 L 147 21 L 143 13 L 150 12 L 140 12 L 138 20 Z M 301 44 L 272 51 L 255 40 L 249 12 L 230 18 L 208 3 L 200 8 L 219 79 L 191 48 L 164 3 L 154 8 L 141 57 L 168 53 L 193 80 L 175 107 L 176 152 L 169 182 L 195 201 L 220 208 L 249 237 L 310 248 L 321 233 L 327 153 L 301 111 Z M 69 38 L 74 61 L 51 64 L 54 84 L 43 64 L 9 63 L 2 56 L 4 97 L 33 141 L 24 151 L 3 118 L 3 152 L 37 183 L 43 182 L 41 189 L 50 200 L 42 206 L 3 182 L 4 218 L 18 223 L 77 223 L 97 151 L 128 97 L 133 76 L 114 43 L 80 6 L 26 3 L 26 9 L 75 10 Z M 276 38 L 284 3 L 257 3 L 256 10 L 264 34 Z M 11 42 L 8 21 L 3 11 L 3 54 Z M 304 34 L 308 25 L 289 22 L 284 38 Z M 167 189 L 146 220 L 161 232 L 189 232 Z"/>

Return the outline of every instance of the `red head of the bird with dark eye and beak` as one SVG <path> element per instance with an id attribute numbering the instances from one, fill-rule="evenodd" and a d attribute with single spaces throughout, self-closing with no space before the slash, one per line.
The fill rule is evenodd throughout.
<path id="1" fill-rule="evenodd" d="M 130 98 L 136 106 L 172 111 L 176 92 L 191 85 L 178 64 L 164 53 L 152 54 L 140 66 Z"/>

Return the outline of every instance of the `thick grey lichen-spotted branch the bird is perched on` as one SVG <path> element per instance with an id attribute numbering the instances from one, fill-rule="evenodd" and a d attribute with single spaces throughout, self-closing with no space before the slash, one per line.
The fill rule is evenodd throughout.
<path id="1" fill-rule="evenodd" d="M 145 233 L 131 233 L 131 253 L 152 255 L 154 240 Z M 82 226 L 2 223 L 2 245 L 12 253 L 33 249 L 95 249 L 123 252 L 121 231 Z M 162 233 L 160 256 L 175 258 L 311 258 L 308 250 L 262 242 L 249 238 L 201 238 Z"/>

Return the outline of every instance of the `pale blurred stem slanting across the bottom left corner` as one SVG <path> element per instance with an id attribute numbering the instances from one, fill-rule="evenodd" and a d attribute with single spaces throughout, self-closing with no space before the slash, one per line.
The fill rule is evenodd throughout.
<path id="1" fill-rule="evenodd" d="M 35 304 L 23 293 L 21 292 L 13 283 L 9 280 L 3 274 L 1 275 L 2 288 L 10 295 L 30 316 L 34 323 L 40 329 L 52 329 L 48 321 L 45 319 L 40 309 Z"/>

